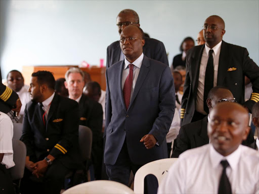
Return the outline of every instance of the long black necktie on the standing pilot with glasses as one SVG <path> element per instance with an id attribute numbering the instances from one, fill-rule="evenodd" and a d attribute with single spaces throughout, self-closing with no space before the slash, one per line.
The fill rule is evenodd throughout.
<path id="1" fill-rule="evenodd" d="M 205 80 L 204 80 L 204 93 L 203 93 L 203 107 L 204 111 L 208 114 L 208 106 L 206 103 L 209 90 L 213 87 L 214 81 L 214 66 L 213 66 L 213 50 L 209 50 L 208 63 L 206 67 Z"/>

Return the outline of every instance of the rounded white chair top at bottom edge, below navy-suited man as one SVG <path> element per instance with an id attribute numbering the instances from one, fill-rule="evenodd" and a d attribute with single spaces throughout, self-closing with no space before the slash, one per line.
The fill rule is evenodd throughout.
<path id="1" fill-rule="evenodd" d="M 63 194 L 130 194 L 134 191 L 124 184 L 112 180 L 94 180 L 73 186 Z"/>

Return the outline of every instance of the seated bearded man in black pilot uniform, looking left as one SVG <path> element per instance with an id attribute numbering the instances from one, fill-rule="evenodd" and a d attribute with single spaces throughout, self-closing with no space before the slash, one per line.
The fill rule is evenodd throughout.
<path id="1" fill-rule="evenodd" d="M 60 193 L 65 175 L 78 168 L 78 104 L 55 94 L 49 71 L 32 73 L 21 140 L 27 156 L 22 193 Z M 35 181 L 32 181 L 34 175 Z M 38 183 L 42 177 L 43 183 Z"/>

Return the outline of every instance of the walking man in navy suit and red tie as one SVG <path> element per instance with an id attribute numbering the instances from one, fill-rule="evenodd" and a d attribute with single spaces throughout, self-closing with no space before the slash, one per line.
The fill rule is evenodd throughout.
<path id="1" fill-rule="evenodd" d="M 165 136 L 175 112 L 174 79 L 165 64 L 144 56 L 144 33 L 125 27 L 125 59 L 106 70 L 104 163 L 110 180 L 127 185 L 131 170 L 167 158 Z"/>

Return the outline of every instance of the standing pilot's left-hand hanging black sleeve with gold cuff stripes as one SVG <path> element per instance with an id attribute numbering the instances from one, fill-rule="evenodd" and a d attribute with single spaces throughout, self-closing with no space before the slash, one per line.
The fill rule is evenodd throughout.
<path id="1" fill-rule="evenodd" d="M 188 55 L 188 53 L 187 53 Z M 186 78 L 185 78 L 185 82 L 184 82 L 184 93 L 183 93 L 183 97 L 182 97 L 182 103 L 181 103 L 181 124 L 183 122 L 184 119 L 184 114 L 185 114 L 185 109 L 187 106 L 187 102 L 188 102 L 188 96 L 190 93 L 190 89 L 191 89 L 191 79 L 190 79 L 190 72 L 189 72 L 189 60 L 188 60 L 188 56 L 186 56 Z"/>

